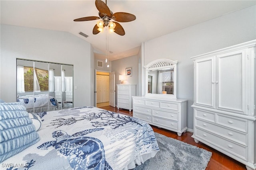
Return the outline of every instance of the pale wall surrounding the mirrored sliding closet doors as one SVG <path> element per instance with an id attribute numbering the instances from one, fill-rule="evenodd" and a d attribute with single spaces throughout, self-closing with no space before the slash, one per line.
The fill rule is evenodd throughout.
<path id="1" fill-rule="evenodd" d="M 90 43 L 70 33 L 1 25 L 0 98 L 16 101 L 16 58 L 74 65 L 74 106 L 90 106 L 94 59 Z M 91 61 L 93 59 L 93 61 Z M 92 66 L 91 66 L 92 64 Z M 89 81 L 88 81 L 89 80 Z M 93 104 L 93 103 L 92 103 Z"/>

